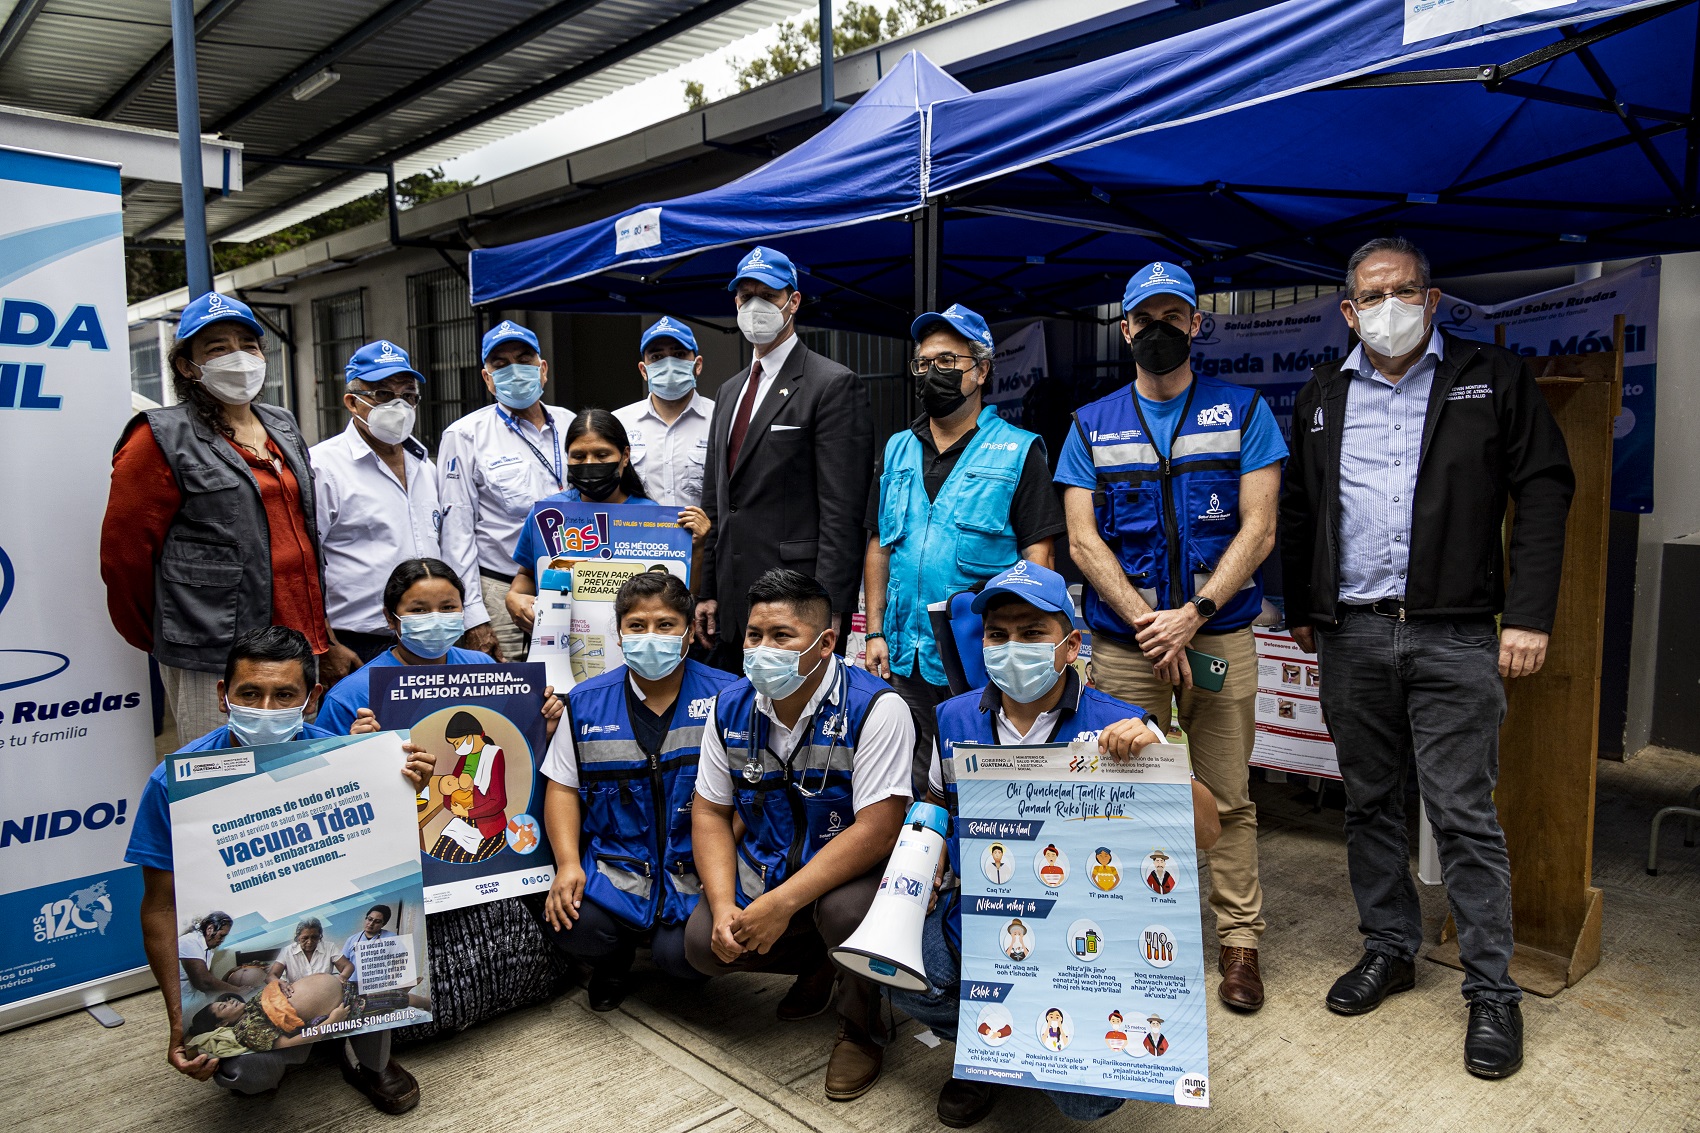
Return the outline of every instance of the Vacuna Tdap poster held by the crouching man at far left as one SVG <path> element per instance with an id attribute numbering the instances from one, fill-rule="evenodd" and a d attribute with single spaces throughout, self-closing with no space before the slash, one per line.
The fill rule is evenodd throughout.
<path id="1" fill-rule="evenodd" d="M 235 1058 L 430 1021 L 405 762 L 394 733 L 168 759 L 190 1048 Z"/>

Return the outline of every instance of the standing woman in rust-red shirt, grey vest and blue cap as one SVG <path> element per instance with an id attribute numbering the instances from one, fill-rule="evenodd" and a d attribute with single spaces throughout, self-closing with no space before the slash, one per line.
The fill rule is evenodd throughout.
<path id="1" fill-rule="evenodd" d="M 138 413 L 112 458 L 107 611 L 160 663 L 185 743 L 223 723 L 216 687 L 243 633 L 301 631 L 328 680 L 357 663 L 332 653 L 325 624 L 308 447 L 289 410 L 258 400 L 264 337 L 245 303 L 218 293 L 184 308 L 170 352 L 177 405 Z"/>

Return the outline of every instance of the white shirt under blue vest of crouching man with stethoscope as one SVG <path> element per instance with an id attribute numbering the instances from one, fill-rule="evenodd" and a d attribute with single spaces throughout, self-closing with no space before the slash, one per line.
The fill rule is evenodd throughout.
<path id="1" fill-rule="evenodd" d="M 774 701 L 756 692 L 755 708 L 768 720 L 767 750 L 780 757 L 789 755 L 797 740 L 814 726 L 814 713 L 821 706 L 821 701 L 835 692 L 838 665 L 842 663 L 836 657 L 828 658 L 826 675 L 821 677 L 819 687 L 814 689 L 809 703 L 804 704 L 796 728 L 782 725 L 779 716 L 774 715 Z M 838 701 L 833 699 L 831 703 L 836 704 Z M 702 755 L 697 760 L 697 794 L 711 803 L 731 806 L 733 772 L 726 759 L 726 745 L 721 743 L 721 732 L 716 725 L 719 706 L 719 697 L 716 697 L 714 708 L 709 709 L 709 718 L 702 726 Z M 881 696 L 867 709 L 867 720 L 862 721 L 862 735 L 850 759 L 850 805 L 855 811 L 862 813 L 864 808 L 892 794 L 901 798 L 915 794 L 915 788 L 910 786 L 910 760 L 913 755 L 915 720 L 910 716 L 910 706 L 903 703 L 901 696 Z"/>

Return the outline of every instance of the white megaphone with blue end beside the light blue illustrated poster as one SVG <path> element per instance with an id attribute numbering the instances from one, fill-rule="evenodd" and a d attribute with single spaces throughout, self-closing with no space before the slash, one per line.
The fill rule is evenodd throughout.
<path id="1" fill-rule="evenodd" d="M 831 951 L 845 971 L 889 983 L 906 992 L 926 990 L 921 963 L 921 925 L 933 897 L 933 874 L 945 851 L 950 815 L 944 806 L 915 803 L 903 818 L 898 849 L 886 861 L 886 876 L 862 925 Z"/>

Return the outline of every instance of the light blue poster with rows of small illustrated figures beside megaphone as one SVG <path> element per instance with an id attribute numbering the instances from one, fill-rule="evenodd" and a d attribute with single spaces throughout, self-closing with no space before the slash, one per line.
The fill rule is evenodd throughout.
<path id="1" fill-rule="evenodd" d="M 955 1077 L 1210 1104 L 1187 749 L 957 745 Z"/>

